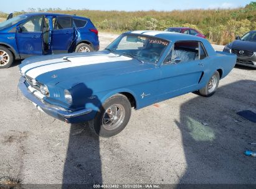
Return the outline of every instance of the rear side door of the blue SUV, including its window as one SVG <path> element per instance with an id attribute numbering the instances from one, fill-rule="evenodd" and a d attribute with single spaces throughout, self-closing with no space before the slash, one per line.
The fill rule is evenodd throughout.
<path id="1" fill-rule="evenodd" d="M 57 16 L 52 19 L 54 29 L 52 30 L 52 52 L 66 53 L 72 50 L 75 40 L 75 29 L 73 19 L 70 16 Z"/>

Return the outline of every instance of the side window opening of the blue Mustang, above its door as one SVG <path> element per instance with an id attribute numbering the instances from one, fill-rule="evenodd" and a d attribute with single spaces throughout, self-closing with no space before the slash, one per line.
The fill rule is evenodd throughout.
<path id="1" fill-rule="evenodd" d="M 173 45 L 173 49 L 164 60 L 167 63 L 190 62 L 199 59 L 199 42 L 181 41 Z"/>

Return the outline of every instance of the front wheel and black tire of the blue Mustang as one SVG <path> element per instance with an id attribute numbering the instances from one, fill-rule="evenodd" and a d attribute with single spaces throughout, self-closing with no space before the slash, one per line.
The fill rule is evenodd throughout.
<path id="1" fill-rule="evenodd" d="M 125 111 L 125 114 L 122 117 L 123 119 L 121 119 L 121 116 L 120 116 L 120 119 L 118 119 L 118 121 L 120 121 L 118 126 L 111 128 L 111 126 L 107 126 L 106 124 L 104 124 L 104 120 L 106 119 L 104 119 L 103 116 L 110 115 L 107 113 L 107 111 L 110 110 L 110 107 L 115 107 L 117 105 L 120 107 L 122 106 L 122 108 L 120 109 L 123 109 Z M 115 136 L 116 134 L 121 132 L 123 129 L 125 129 L 126 125 L 130 120 L 130 117 L 131 117 L 130 101 L 123 94 L 115 94 L 110 98 L 108 98 L 107 101 L 105 101 L 105 103 L 100 108 L 100 112 L 97 113 L 97 115 L 93 120 L 88 121 L 88 124 L 90 126 L 90 129 L 92 129 L 92 131 L 98 136 L 111 137 L 111 136 Z M 113 121 L 115 121 L 115 119 L 113 119 Z"/>

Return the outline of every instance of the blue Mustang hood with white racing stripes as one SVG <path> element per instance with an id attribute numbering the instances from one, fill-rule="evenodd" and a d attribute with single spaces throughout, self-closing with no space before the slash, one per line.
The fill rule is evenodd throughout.
<path id="1" fill-rule="evenodd" d="M 20 68 L 21 73 L 31 79 L 55 85 L 64 80 L 80 82 L 134 72 L 145 69 L 145 66 L 136 59 L 102 51 L 28 58 Z"/>

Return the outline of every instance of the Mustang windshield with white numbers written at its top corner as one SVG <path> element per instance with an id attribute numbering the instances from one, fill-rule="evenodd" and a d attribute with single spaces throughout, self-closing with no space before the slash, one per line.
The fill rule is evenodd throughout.
<path id="1" fill-rule="evenodd" d="M 120 55 L 136 58 L 140 62 L 156 64 L 168 46 L 169 42 L 156 37 L 145 35 L 123 34 L 120 35 L 106 49 Z"/>

